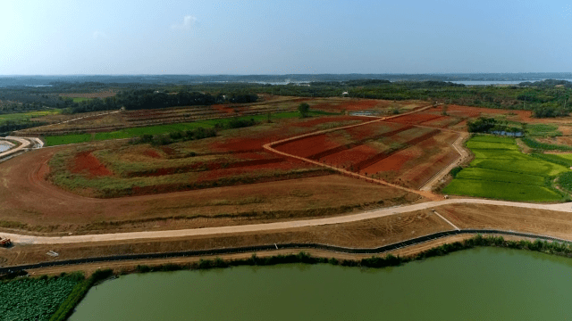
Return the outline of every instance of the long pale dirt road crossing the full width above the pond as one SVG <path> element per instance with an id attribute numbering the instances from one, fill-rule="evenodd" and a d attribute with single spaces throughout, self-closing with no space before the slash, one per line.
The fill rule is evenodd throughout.
<path id="1" fill-rule="evenodd" d="M 426 210 L 433 207 L 449 204 L 488 204 L 500 206 L 512 206 L 522 209 L 537 209 L 537 210 L 556 210 L 572 212 L 572 204 L 533 204 L 523 202 L 504 202 L 492 200 L 478 200 L 478 199 L 454 199 L 444 200 L 438 202 L 424 202 L 413 205 L 404 205 L 392 207 L 381 210 L 371 210 L 362 213 L 333 217 L 333 218 L 315 218 L 305 220 L 295 220 L 289 222 L 278 223 L 265 223 L 244 226 L 220 226 L 220 227 L 205 227 L 205 228 L 192 228 L 171 231 L 149 231 L 149 232 L 129 232 L 129 233 L 115 233 L 115 234 L 102 234 L 102 235 L 71 235 L 71 236 L 31 236 L 31 235 L 16 235 L 9 233 L 2 233 L 0 235 L 8 237 L 14 243 L 27 243 L 27 244 L 59 244 L 59 243 L 86 243 L 86 242 L 105 242 L 105 241 L 126 241 L 137 239 L 153 239 L 153 238 L 168 238 L 168 237 L 183 237 L 183 236 L 198 236 L 198 235 L 225 235 L 236 233 L 252 233 L 252 232 L 268 232 L 283 230 L 289 228 L 299 228 L 308 226 L 325 226 L 332 224 L 343 224 L 356 222 L 370 218 L 383 218 L 386 216 L 407 213 L 414 210 Z"/>

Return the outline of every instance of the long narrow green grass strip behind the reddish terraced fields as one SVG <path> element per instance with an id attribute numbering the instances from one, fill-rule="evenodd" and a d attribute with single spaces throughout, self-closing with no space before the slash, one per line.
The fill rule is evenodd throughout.
<path id="1" fill-rule="evenodd" d="M 334 115 L 335 113 L 329 113 L 324 111 L 309 111 L 310 116 L 320 116 L 320 115 Z M 277 112 L 272 114 L 272 119 L 291 119 L 299 117 L 298 111 L 290 112 Z M 268 119 L 267 115 L 253 115 L 240 117 L 239 119 L 255 119 L 256 121 L 265 121 Z M 231 121 L 231 119 L 207 119 L 198 120 L 188 123 L 177 123 L 169 125 L 156 125 L 147 126 L 140 128 L 125 128 L 122 130 L 117 130 L 113 132 L 96 133 L 92 134 L 72 134 L 64 136 L 46 136 L 44 140 L 46 141 L 46 146 L 55 146 L 60 144 L 78 144 L 86 143 L 91 141 L 103 141 L 110 139 L 124 139 L 132 138 L 143 135 L 157 135 L 164 133 L 172 133 L 177 131 L 185 131 L 194 128 L 214 128 L 216 124 L 224 125 Z"/>

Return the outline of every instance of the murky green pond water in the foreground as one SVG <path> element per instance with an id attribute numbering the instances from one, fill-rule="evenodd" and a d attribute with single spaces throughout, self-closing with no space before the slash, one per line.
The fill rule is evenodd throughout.
<path id="1" fill-rule="evenodd" d="M 289 264 L 121 276 L 70 320 L 564 320 L 572 259 L 496 248 L 397 268 Z"/>

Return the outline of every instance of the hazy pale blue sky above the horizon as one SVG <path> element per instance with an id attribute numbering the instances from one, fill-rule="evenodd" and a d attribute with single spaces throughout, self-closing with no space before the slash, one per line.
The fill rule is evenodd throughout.
<path id="1" fill-rule="evenodd" d="M 0 75 L 571 72 L 567 1 L 3 1 Z"/>

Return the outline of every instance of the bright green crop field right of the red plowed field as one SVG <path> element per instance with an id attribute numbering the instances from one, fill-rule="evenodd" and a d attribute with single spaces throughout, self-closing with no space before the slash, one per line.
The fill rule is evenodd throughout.
<path id="1" fill-rule="evenodd" d="M 572 172 L 563 165 L 566 158 L 519 152 L 515 140 L 507 137 L 475 136 L 467 147 L 475 154 L 475 160 L 457 174 L 443 193 L 524 202 L 564 200 L 565 195 L 551 186 L 551 180 Z"/>

